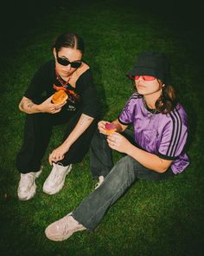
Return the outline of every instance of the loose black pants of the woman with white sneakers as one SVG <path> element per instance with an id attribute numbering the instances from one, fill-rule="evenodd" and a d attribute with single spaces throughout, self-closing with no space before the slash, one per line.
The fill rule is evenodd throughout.
<path id="1" fill-rule="evenodd" d="M 48 143 L 52 135 L 54 125 L 67 123 L 66 133 L 62 141 L 73 131 L 80 119 L 81 112 L 66 112 L 63 110 L 59 114 L 37 113 L 27 115 L 24 127 L 22 148 L 16 156 L 16 167 L 22 174 L 38 172 L 41 167 L 41 160 L 48 148 Z M 89 149 L 92 135 L 97 128 L 97 121 L 80 135 L 77 141 L 69 148 L 61 163 L 67 166 L 71 163 L 82 161 Z M 61 142 L 59 141 L 59 146 Z"/>

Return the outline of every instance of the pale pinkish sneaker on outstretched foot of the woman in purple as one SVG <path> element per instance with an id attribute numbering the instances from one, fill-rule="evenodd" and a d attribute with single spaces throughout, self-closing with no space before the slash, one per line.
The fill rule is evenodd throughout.
<path id="1" fill-rule="evenodd" d="M 82 230 L 86 230 L 86 227 L 74 220 L 69 213 L 64 218 L 50 224 L 46 228 L 45 234 L 49 240 L 62 241 L 67 240 L 74 232 Z"/>

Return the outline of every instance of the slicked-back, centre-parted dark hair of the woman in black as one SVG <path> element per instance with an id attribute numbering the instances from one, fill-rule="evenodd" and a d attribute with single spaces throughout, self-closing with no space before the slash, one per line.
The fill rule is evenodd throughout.
<path id="1" fill-rule="evenodd" d="M 67 47 L 71 49 L 79 49 L 82 55 L 85 51 L 85 44 L 83 39 L 76 33 L 64 33 L 61 36 L 58 36 L 53 49 L 56 49 L 56 52 L 61 50 L 62 47 Z"/>

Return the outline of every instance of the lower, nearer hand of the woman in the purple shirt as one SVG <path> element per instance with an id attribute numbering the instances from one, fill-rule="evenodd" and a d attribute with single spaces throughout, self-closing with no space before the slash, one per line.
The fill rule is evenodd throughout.
<path id="1" fill-rule="evenodd" d="M 125 154 L 128 154 L 128 149 L 131 147 L 131 142 L 118 133 L 109 135 L 107 137 L 107 142 L 110 148 Z"/>

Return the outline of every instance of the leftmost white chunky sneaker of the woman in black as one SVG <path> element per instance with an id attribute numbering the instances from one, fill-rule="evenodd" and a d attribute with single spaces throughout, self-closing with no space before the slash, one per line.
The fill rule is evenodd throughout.
<path id="1" fill-rule="evenodd" d="M 19 200 L 29 200 L 34 197 L 36 191 L 35 179 L 41 175 L 41 169 L 37 173 L 30 172 L 28 174 L 21 174 L 21 180 L 19 181 L 17 189 Z"/>

